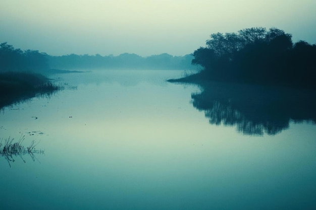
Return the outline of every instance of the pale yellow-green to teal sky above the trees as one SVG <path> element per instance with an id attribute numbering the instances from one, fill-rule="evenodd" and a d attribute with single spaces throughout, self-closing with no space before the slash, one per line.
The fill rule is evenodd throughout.
<path id="1" fill-rule="evenodd" d="M 209 35 L 277 27 L 316 43 L 315 0 L 0 0 L 0 43 L 50 55 L 185 55 Z"/>

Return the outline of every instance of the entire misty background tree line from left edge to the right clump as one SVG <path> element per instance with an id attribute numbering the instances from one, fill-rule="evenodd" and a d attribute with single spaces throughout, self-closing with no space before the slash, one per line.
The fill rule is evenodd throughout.
<path id="1" fill-rule="evenodd" d="M 196 69 L 192 54 L 173 56 L 167 53 L 142 57 L 123 53 L 118 56 L 62 55 L 51 56 L 38 50 L 15 49 L 7 42 L 0 44 L 0 72 L 28 71 L 43 73 L 48 69 Z"/>

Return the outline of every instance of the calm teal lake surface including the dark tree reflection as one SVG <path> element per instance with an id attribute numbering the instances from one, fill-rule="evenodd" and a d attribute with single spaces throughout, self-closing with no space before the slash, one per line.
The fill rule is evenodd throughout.
<path id="1" fill-rule="evenodd" d="M 0 209 L 314 209 L 314 98 L 181 76 L 52 75 L 65 90 L 6 107 L 2 144 L 44 154 L 0 156 Z"/>

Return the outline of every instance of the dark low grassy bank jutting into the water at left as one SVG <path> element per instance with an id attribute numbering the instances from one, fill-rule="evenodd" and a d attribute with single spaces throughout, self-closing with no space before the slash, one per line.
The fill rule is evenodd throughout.
<path id="1" fill-rule="evenodd" d="M 40 75 L 22 72 L 0 73 L 0 109 L 40 95 L 50 95 L 58 87 Z"/>

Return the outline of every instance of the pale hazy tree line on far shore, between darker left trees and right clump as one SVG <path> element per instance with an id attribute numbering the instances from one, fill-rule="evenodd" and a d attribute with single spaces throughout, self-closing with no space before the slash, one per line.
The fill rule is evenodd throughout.
<path id="1" fill-rule="evenodd" d="M 123 53 L 118 56 L 63 55 L 49 56 L 49 65 L 56 69 L 196 69 L 193 55 L 172 56 L 167 53 L 142 57 Z"/>

